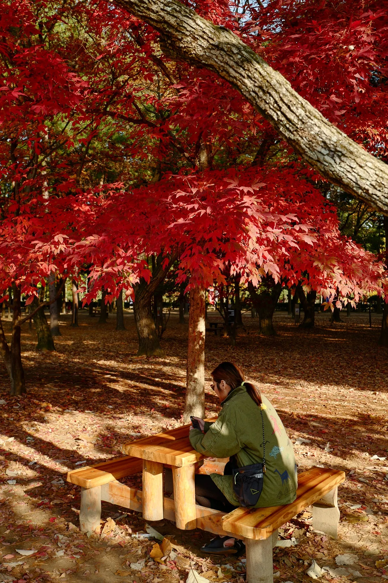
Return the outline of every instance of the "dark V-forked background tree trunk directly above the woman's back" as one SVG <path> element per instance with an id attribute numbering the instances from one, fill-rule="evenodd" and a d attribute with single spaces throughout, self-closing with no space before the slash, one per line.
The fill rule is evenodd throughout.
<path id="1" fill-rule="evenodd" d="M 260 334 L 273 336 L 276 334 L 273 327 L 273 312 L 281 294 L 281 283 L 275 283 L 269 276 L 262 280 L 259 293 L 251 282 L 248 282 L 248 291 L 259 315 Z"/>

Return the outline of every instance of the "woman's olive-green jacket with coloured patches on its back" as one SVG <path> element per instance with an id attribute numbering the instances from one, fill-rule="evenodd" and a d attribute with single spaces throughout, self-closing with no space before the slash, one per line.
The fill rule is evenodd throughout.
<path id="1" fill-rule="evenodd" d="M 298 477 L 292 443 L 273 405 L 263 397 L 266 473 L 256 508 L 290 504 L 297 497 Z M 190 431 L 193 448 L 203 455 L 227 458 L 232 455 L 239 468 L 263 462 L 263 428 L 259 407 L 243 386 L 235 388 L 221 403 L 214 423 Z M 211 474 L 211 479 L 231 504 L 239 506 L 233 491 L 233 477 Z"/>

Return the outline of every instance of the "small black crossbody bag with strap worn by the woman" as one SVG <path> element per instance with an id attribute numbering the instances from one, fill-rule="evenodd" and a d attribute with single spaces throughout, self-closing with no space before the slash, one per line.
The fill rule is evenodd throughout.
<path id="1" fill-rule="evenodd" d="M 252 463 L 242 468 L 235 467 L 235 459 L 225 465 L 224 476 L 233 476 L 233 490 L 241 506 L 255 506 L 263 490 L 263 478 L 266 472 L 266 444 L 264 438 L 264 419 L 259 406 L 263 427 L 263 463 Z"/>

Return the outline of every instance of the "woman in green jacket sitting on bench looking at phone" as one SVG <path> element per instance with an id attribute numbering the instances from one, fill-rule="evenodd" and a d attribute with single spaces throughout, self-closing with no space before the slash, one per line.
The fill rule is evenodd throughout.
<path id="1" fill-rule="evenodd" d="M 201 454 L 230 461 L 223 476 L 195 476 L 196 503 L 226 512 L 238 506 L 290 504 L 297 495 L 297 466 L 292 443 L 273 405 L 255 385 L 244 381 L 244 373 L 236 364 L 221 363 L 211 376 L 221 413 L 214 423 L 193 417 L 199 429 L 191 427 L 189 438 Z M 217 536 L 201 550 L 209 554 L 241 553 L 244 543 Z"/>

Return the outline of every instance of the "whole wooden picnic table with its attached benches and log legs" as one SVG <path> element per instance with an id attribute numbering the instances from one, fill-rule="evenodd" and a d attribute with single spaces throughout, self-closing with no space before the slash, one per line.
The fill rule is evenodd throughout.
<path id="1" fill-rule="evenodd" d="M 131 454 L 141 454 L 142 459 L 127 455 L 68 472 L 68 482 L 82 487 L 81 531 L 100 528 L 101 501 L 107 501 L 143 512 L 143 517 L 148 520 L 165 518 L 174 521 L 178 528 L 201 528 L 221 536 L 234 536 L 245 540 L 247 583 L 273 583 L 272 549 L 276 545 L 278 528 L 308 506 L 313 506 L 313 528 L 337 538 L 340 518 L 337 486 L 344 482 L 344 472 L 311 468 L 299 473 L 297 498 L 293 503 L 271 508 L 236 508 L 226 514 L 196 505 L 195 500 L 193 505 L 189 504 L 193 496 L 194 472 L 222 474 L 225 463 L 198 459 L 197 452 L 190 451 L 188 440 L 184 439 L 187 433 L 188 426 L 179 427 L 124 446 L 123 449 L 130 450 Z M 166 442 L 170 444 L 169 448 Z M 162 455 L 161 451 L 164 466 L 173 471 L 174 499 L 164 497 L 162 493 L 159 500 L 160 484 L 163 488 L 163 465 L 153 460 Z M 182 465 L 177 466 L 177 463 Z M 144 494 L 142 490 L 118 482 L 119 478 L 142 470 Z"/>

